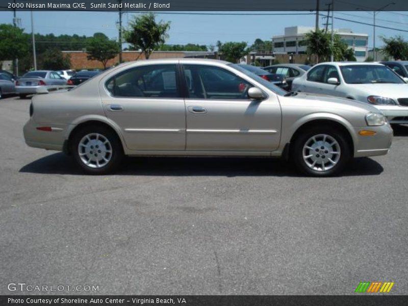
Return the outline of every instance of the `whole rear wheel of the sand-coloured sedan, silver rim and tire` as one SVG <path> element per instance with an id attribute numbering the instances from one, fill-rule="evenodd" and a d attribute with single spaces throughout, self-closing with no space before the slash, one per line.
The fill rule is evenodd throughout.
<path id="1" fill-rule="evenodd" d="M 86 126 L 76 132 L 70 151 L 81 168 L 90 174 L 115 171 L 123 157 L 118 136 L 105 126 Z"/>

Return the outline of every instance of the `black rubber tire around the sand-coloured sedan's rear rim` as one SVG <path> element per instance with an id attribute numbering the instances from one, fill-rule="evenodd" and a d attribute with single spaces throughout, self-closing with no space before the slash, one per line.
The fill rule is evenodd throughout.
<path id="1" fill-rule="evenodd" d="M 86 138 L 86 135 L 93 135 L 93 134 L 99 134 L 101 139 L 106 138 L 109 141 L 108 149 L 110 147 L 111 149 L 111 155 L 108 153 L 105 157 L 109 158 L 109 162 L 107 162 L 105 165 L 101 167 L 95 167 L 93 163 L 90 163 L 90 165 L 86 165 L 83 159 L 87 159 L 88 156 L 82 157 L 80 156 L 80 142 Z M 92 137 L 91 137 L 92 138 Z M 96 139 L 92 139 L 95 140 Z M 120 166 L 120 163 L 123 160 L 123 147 L 122 143 L 120 142 L 119 137 L 117 134 L 109 129 L 106 126 L 84 126 L 83 129 L 75 132 L 74 135 L 72 135 L 72 139 L 70 141 L 70 148 L 69 148 L 73 159 L 75 162 L 88 174 L 108 174 L 112 173 L 117 168 Z M 83 148 L 83 145 L 81 146 L 81 150 L 84 150 L 82 154 L 84 154 L 85 149 Z M 96 148 L 95 148 L 96 150 Z M 93 151 L 91 151 L 93 152 Z M 99 151 L 100 152 L 100 151 Z M 96 151 L 95 151 L 96 153 Z M 103 153 L 104 154 L 104 153 Z M 96 155 L 95 155 L 96 156 Z M 101 160 L 103 161 L 103 160 Z M 94 167 L 92 167 L 94 166 Z"/>

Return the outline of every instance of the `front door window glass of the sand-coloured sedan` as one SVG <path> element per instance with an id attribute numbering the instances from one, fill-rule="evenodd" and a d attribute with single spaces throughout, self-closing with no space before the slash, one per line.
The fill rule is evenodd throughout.
<path id="1" fill-rule="evenodd" d="M 236 74 L 214 66 L 184 65 L 184 74 L 190 98 L 198 99 L 248 99 L 252 87 Z"/>

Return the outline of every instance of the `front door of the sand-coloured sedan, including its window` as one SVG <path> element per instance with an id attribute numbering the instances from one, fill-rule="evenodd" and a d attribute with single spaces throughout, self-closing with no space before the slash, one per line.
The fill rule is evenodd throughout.
<path id="1" fill-rule="evenodd" d="M 250 100 L 252 85 L 212 65 L 184 65 L 186 150 L 272 151 L 279 145 L 281 107 L 276 95 Z"/>

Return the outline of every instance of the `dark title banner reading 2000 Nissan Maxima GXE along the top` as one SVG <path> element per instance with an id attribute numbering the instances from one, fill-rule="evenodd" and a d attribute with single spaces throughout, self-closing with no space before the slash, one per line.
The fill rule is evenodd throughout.
<path id="1" fill-rule="evenodd" d="M 407 0 L 1 0 L 17 11 L 408 11 Z"/>

